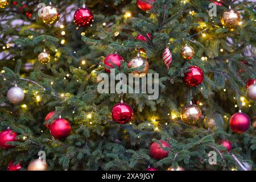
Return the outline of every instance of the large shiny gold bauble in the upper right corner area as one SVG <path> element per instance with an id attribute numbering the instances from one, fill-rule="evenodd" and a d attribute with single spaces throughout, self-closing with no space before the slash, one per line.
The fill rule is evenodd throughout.
<path id="1" fill-rule="evenodd" d="M 225 28 L 236 28 L 240 25 L 240 22 L 240 14 L 233 9 L 225 10 L 221 16 L 221 24 Z"/>

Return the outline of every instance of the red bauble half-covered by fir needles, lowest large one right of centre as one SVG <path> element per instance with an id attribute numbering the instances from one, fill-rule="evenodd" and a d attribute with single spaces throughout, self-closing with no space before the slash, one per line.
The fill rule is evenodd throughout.
<path id="1" fill-rule="evenodd" d="M 162 146 L 158 142 L 153 142 L 150 146 L 150 155 L 155 159 L 163 159 L 168 156 L 169 151 L 164 150 L 165 147 L 171 148 L 170 144 L 166 141 L 159 140 Z"/>

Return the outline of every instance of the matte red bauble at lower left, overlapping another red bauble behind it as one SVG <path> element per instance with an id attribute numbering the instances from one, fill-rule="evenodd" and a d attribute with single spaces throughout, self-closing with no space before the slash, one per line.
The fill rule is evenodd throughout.
<path id="1" fill-rule="evenodd" d="M 71 125 L 66 119 L 55 119 L 51 123 L 49 131 L 54 138 L 65 139 L 71 133 Z"/>

